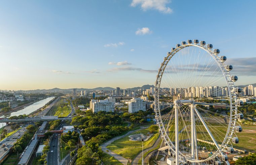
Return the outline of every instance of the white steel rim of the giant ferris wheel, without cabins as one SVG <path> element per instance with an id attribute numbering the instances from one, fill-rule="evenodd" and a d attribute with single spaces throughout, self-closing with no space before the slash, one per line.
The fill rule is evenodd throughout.
<path id="1" fill-rule="evenodd" d="M 156 76 L 156 81 L 155 81 L 155 94 L 154 94 L 154 104 L 155 104 L 155 108 L 154 108 L 154 111 L 156 112 L 156 115 L 155 115 L 155 118 L 156 118 L 156 121 L 157 121 L 157 124 L 161 130 L 161 135 L 163 136 L 164 138 L 164 141 L 165 142 L 172 142 L 170 140 L 170 137 L 169 136 L 166 136 L 167 135 L 167 131 L 166 129 L 164 128 L 164 124 L 162 122 L 162 118 L 161 118 L 161 114 L 160 114 L 160 108 L 159 108 L 159 92 L 160 92 L 160 84 L 161 84 L 161 78 L 162 78 L 162 75 L 164 73 L 164 69 L 166 68 L 167 64 L 169 63 L 169 61 L 171 60 L 171 58 L 177 53 L 179 52 L 180 50 L 182 50 L 183 48 L 186 48 L 186 47 L 189 47 L 189 46 L 195 46 L 195 47 L 198 47 L 200 49 L 203 49 L 204 51 L 206 51 L 208 54 L 211 55 L 211 57 L 215 60 L 215 62 L 218 64 L 218 67 L 221 69 L 222 73 L 223 73 L 223 76 L 225 77 L 225 81 L 226 81 L 226 85 L 227 85 L 227 88 L 228 88 L 228 92 L 229 92 L 229 101 L 230 101 L 230 116 L 229 116 L 229 124 L 228 124 L 228 128 L 227 128 L 227 132 L 226 132 L 226 135 L 224 137 L 224 140 L 222 142 L 222 144 L 219 146 L 219 149 L 211 156 L 211 157 L 208 157 L 207 159 L 204 159 L 204 160 L 193 160 L 193 159 L 188 159 L 187 161 L 189 162 L 205 162 L 205 161 L 208 161 L 208 160 L 211 160 L 211 159 L 214 159 L 215 157 L 217 157 L 218 155 L 221 155 L 223 156 L 223 150 L 224 150 L 224 147 L 227 148 L 229 146 L 227 146 L 229 143 L 230 143 L 230 140 L 232 139 L 232 134 L 234 133 L 234 129 L 235 129 L 235 126 L 236 126 L 236 120 L 237 120 L 237 105 L 235 104 L 237 99 L 236 99 L 236 94 L 234 92 L 234 89 L 235 89 L 235 86 L 234 86 L 234 83 L 233 81 L 229 80 L 231 75 L 229 73 L 228 70 L 225 70 L 225 63 L 222 62 L 220 60 L 220 57 L 216 54 L 214 54 L 213 50 L 212 49 L 207 49 L 206 46 L 202 46 L 202 45 L 197 45 L 197 44 L 185 44 L 185 45 L 180 45 L 179 47 L 177 47 L 176 49 L 172 50 L 170 53 L 168 53 L 168 56 L 164 58 L 164 61 L 161 63 L 161 66 L 160 68 L 158 69 L 158 73 L 157 73 L 157 76 Z M 157 114 L 158 112 L 158 114 Z M 234 113 L 234 114 L 232 114 Z M 159 123 L 160 122 L 160 123 Z M 162 127 L 161 127 L 162 125 Z M 231 137 L 231 138 L 230 138 Z M 170 149 L 172 151 L 173 148 L 172 147 L 175 147 L 173 145 L 173 143 L 167 143 L 168 146 L 170 147 Z M 230 143 L 231 144 L 231 143 Z M 231 144 L 232 145 L 232 144 Z M 184 158 L 186 158 L 185 155 L 183 155 L 180 151 L 179 151 L 179 155 L 182 155 Z M 226 161 L 227 162 L 227 161 Z"/>

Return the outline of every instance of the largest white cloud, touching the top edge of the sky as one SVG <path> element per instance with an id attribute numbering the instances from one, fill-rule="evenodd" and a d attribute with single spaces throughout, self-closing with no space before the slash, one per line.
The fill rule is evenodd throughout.
<path id="1" fill-rule="evenodd" d="M 170 3 L 169 0 L 133 0 L 131 6 L 141 6 L 141 9 L 146 11 L 148 9 L 158 10 L 162 13 L 172 13 L 173 10 L 166 5 Z"/>

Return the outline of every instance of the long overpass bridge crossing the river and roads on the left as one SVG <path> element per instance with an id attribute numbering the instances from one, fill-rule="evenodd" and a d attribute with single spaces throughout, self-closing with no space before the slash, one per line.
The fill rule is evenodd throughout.
<path id="1" fill-rule="evenodd" d="M 53 120 L 71 120 L 71 117 L 64 118 L 24 118 L 24 119 L 1 119 L 1 123 L 10 123 L 10 122 L 27 122 L 27 121 L 53 121 Z"/>

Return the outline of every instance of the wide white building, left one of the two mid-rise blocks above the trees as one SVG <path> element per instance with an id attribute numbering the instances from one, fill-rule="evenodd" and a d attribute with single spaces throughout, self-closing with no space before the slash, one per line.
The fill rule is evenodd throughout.
<path id="1" fill-rule="evenodd" d="M 115 99 L 108 97 L 105 100 L 91 100 L 90 109 L 93 110 L 93 113 L 97 113 L 99 111 L 114 112 Z"/>

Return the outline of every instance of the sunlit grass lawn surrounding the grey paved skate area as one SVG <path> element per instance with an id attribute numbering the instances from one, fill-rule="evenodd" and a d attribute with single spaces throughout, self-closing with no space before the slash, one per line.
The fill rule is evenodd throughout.
<path id="1" fill-rule="evenodd" d="M 146 135 L 148 132 L 149 132 L 149 128 L 143 129 L 140 131 L 136 131 L 132 134 L 143 133 L 144 135 Z M 113 142 L 107 148 L 110 149 L 111 151 L 121 155 L 122 157 L 124 157 L 126 159 L 133 160 L 142 151 L 142 147 L 141 147 L 142 142 L 141 141 L 129 141 L 130 138 L 128 136 L 125 136 L 122 139 Z M 154 141 L 157 139 L 157 136 L 158 136 L 158 134 L 155 133 L 149 138 L 149 140 L 145 141 L 143 143 L 144 149 L 151 147 L 153 145 Z"/>

